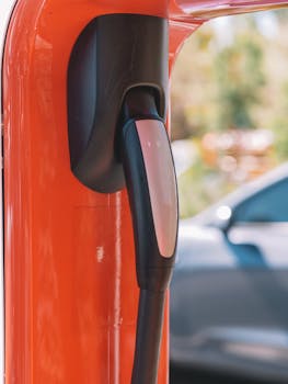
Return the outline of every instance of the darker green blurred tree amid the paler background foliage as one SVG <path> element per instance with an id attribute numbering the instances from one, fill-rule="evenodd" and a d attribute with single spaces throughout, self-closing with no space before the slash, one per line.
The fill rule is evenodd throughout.
<path id="1" fill-rule="evenodd" d="M 216 128 L 253 128 L 253 108 L 262 101 L 265 84 L 263 50 L 255 32 L 238 34 L 215 58 L 217 84 Z"/>

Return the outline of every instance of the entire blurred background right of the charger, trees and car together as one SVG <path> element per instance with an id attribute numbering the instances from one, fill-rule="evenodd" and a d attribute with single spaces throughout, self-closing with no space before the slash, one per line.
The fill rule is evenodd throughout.
<path id="1" fill-rule="evenodd" d="M 212 20 L 172 72 L 171 384 L 288 383 L 288 10 Z"/>

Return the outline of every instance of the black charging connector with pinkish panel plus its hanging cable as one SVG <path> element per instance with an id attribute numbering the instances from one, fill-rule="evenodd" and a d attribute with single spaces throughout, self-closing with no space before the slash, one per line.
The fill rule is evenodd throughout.
<path id="1" fill-rule="evenodd" d="M 140 287 L 131 384 L 155 384 L 165 292 L 175 259 L 176 180 L 154 92 L 140 87 L 130 90 L 125 98 L 120 124 L 122 160 Z"/>

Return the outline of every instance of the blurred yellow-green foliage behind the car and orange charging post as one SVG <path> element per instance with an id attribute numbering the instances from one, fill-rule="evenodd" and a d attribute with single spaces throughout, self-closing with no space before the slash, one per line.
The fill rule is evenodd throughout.
<path id="1" fill-rule="evenodd" d="M 172 74 L 172 138 L 197 143 L 215 129 L 266 128 L 275 134 L 273 161 L 288 160 L 288 10 L 275 14 L 274 38 L 258 32 L 253 15 L 241 15 L 231 18 L 226 46 L 209 23 L 186 42 Z M 181 216 L 199 213 L 235 187 L 199 151 L 178 178 Z"/>

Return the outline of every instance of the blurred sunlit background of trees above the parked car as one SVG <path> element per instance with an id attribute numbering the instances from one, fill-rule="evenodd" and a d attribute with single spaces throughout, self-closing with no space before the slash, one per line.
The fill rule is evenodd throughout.
<path id="1" fill-rule="evenodd" d="M 184 44 L 171 88 L 181 217 L 288 159 L 287 21 L 220 18 Z"/>

